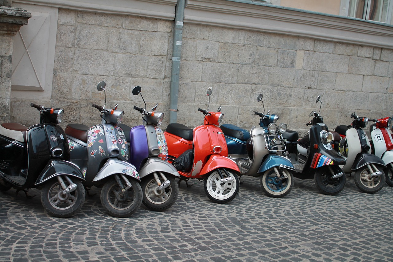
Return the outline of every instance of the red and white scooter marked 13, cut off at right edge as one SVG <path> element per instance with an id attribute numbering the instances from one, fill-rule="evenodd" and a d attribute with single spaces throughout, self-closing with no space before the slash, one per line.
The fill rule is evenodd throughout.
<path id="1" fill-rule="evenodd" d="M 391 117 L 385 117 L 370 125 L 371 153 L 386 164 L 385 181 L 389 186 L 393 186 L 393 137 L 389 132 L 391 121 Z"/>

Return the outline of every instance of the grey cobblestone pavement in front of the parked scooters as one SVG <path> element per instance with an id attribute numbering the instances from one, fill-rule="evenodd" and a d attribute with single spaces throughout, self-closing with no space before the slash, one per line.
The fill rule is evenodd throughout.
<path id="1" fill-rule="evenodd" d="M 142 205 L 130 218 L 104 214 L 98 189 L 68 219 L 48 216 L 39 191 L 0 192 L 0 261 L 393 261 L 393 188 L 364 194 L 347 177 L 325 196 L 295 179 L 274 199 L 259 179 L 241 181 L 231 203 L 212 203 L 192 179 L 169 210 Z"/>

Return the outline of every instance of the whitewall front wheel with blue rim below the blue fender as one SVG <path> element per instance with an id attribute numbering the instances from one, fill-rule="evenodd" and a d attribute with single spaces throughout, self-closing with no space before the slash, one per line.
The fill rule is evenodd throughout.
<path id="1" fill-rule="evenodd" d="M 285 168 L 277 167 L 277 169 L 281 173 L 281 177 L 284 177 L 282 173 L 285 172 L 288 178 L 280 180 L 275 174 L 273 168 L 266 170 L 263 175 L 261 175 L 261 187 L 263 192 L 265 192 L 267 196 L 275 198 L 288 195 L 294 185 L 292 172 Z"/>

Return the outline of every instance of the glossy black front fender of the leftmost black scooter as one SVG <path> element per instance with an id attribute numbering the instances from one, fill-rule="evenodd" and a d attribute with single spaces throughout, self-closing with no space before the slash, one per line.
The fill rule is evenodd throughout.
<path id="1" fill-rule="evenodd" d="M 42 170 L 40 175 L 37 177 L 35 185 L 40 185 L 52 177 L 56 177 L 58 175 L 69 175 L 84 181 L 84 176 L 76 164 L 60 159 L 51 159 L 48 164 L 46 164 L 44 170 Z"/>

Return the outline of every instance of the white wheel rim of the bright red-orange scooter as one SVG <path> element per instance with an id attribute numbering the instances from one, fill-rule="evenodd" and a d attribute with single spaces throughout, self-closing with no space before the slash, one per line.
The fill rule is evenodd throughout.
<path id="1" fill-rule="evenodd" d="M 211 196 L 216 199 L 228 199 L 236 192 L 236 179 L 232 173 L 229 173 L 233 177 L 233 181 L 230 183 L 221 183 L 221 177 L 217 171 L 211 173 L 206 179 L 206 187 Z"/>

